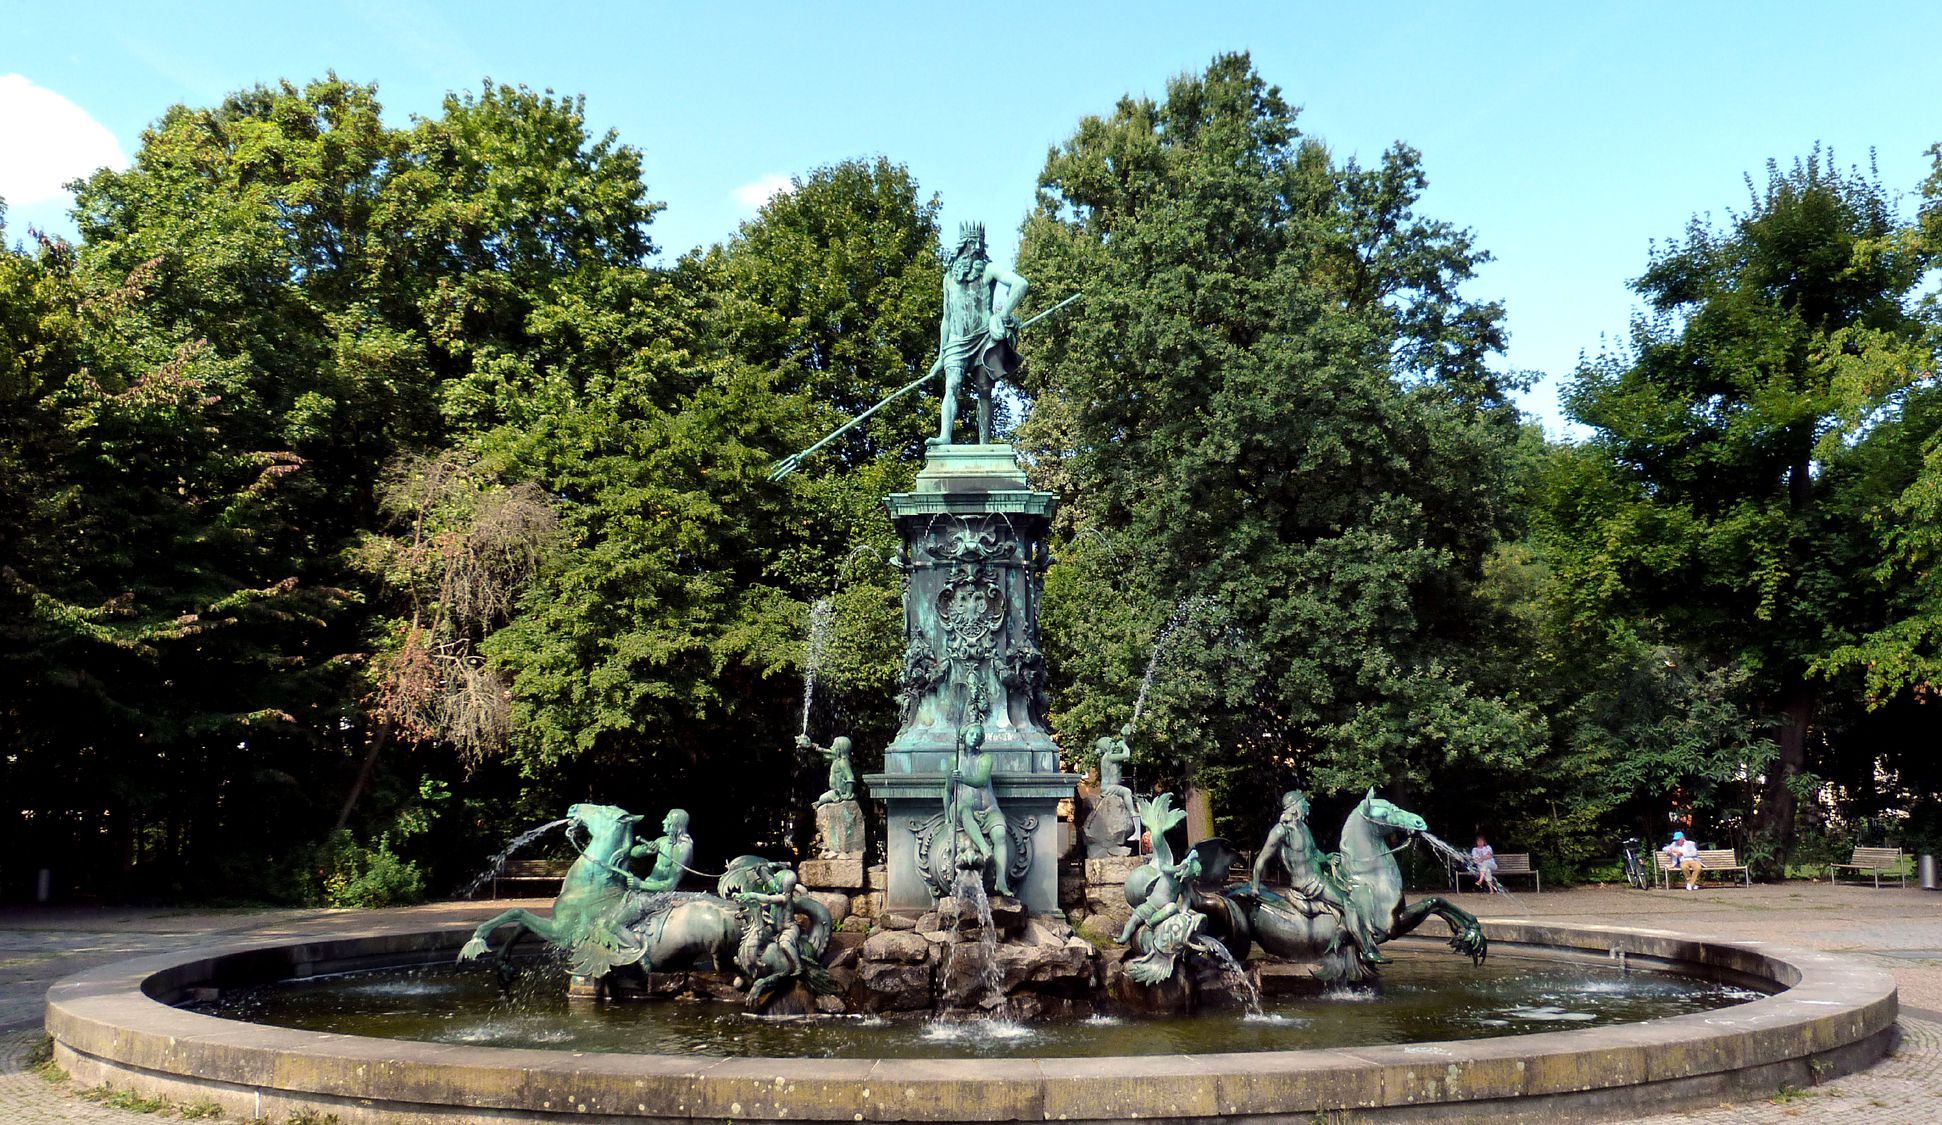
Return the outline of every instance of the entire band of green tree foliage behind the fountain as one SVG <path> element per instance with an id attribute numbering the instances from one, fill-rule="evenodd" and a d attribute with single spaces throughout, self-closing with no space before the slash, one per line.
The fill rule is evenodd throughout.
<path id="1" fill-rule="evenodd" d="M 1913 223 L 1820 153 L 1695 222 L 1552 445 L 1414 150 L 1336 159 L 1239 54 L 1080 120 L 1020 268 L 1086 299 L 1000 420 L 1064 499 L 1060 740 L 1152 666 L 1140 789 L 1245 839 L 1383 785 L 1548 880 L 1668 814 L 1775 869 L 1794 804 L 1794 859 L 1942 837 L 1934 157 Z M 579 99 L 394 128 L 326 76 L 169 109 L 80 247 L 0 247 L 10 870 L 410 902 L 581 795 L 802 841 L 810 606 L 870 769 L 936 392 L 767 470 L 928 369 L 938 200 L 845 161 L 672 266 L 658 210 Z"/>

